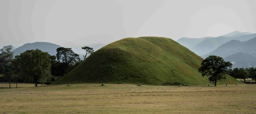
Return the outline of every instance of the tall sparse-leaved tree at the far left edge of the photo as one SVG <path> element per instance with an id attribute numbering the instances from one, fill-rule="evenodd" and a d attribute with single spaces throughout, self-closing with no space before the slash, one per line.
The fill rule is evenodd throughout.
<path id="1" fill-rule="evenodd" d="M 0 49 L 0 74 L 4 75 L 4 78 L 9 82 L 11 88 L 12 79 L 12 61 L 13 61 L 13 46 L 8 45 Z"/>

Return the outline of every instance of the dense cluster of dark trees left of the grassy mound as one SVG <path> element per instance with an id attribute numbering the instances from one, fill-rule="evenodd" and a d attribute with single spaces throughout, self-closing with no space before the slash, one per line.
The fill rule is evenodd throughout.
<path id="1" fill-rule="evenodd" d="M 9 82 L 10 88 L 10 82 L 16 82 L 16 87 L 17 82 L 35 83 L 35 86 L 55 82 L 94 52 L 93 48 L 82 47 L 83 60 L 71 48 L 64 47 L 56 49 L 56 56 L 35 49 L 14 57 L 12 48 L 8 45 L 0 49 L 0 82 Z"/>

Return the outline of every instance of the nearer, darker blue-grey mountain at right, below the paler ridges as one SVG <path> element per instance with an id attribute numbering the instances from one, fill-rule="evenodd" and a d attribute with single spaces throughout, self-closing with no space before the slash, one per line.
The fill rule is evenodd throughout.
<path id="1" fill-rule="evenodd" d="M 231 40 L 216 50 L 201 56 L 217 55 L 233 63 L 234 67 L 256 67 L 256 37 L 248 41 Z"/>

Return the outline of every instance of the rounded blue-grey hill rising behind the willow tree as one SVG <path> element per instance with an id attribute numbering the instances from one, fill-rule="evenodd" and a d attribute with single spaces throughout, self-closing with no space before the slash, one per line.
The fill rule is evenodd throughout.
<path id="1" fill-rule="evenodd" d="M 34 42 L 34 43 L 26 43 L 22 45 L 21 47 L 18 47 L 13 50 L 14 56 L 20 55 L 26 50 L 32 50 L 32 49 L 39 49 L 42 50 L 43 52 L 48 52 L 50 55 L 56 55 L 56 49 L 61 46 L 53 44 L 53 43 L 48 43 L 48 42 Z"/>

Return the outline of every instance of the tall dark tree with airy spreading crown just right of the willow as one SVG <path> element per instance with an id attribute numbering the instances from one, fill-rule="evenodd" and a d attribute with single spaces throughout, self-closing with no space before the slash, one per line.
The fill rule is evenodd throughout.
<path id="1" fill-rule="evenodd" d="M 68 65 L 75 64 L 79 60 L 79 55 L 71 50 L 71 48 L 60 47 L 57 48 L 57 60 L 65 63 L 66 73 L 68 73 Z"/>

